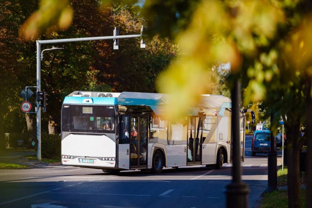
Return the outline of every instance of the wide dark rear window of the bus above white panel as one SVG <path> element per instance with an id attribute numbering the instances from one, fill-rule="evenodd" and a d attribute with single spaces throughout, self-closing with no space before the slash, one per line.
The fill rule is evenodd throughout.
<path id="1" fill-rule="evenodd" d="M 62 131 L 115 133 L 114 106 L 64 105 Z"/>

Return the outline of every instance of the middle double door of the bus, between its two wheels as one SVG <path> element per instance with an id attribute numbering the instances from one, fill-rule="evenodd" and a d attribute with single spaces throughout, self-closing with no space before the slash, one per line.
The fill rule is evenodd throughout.
<path id="1" fill-rule="evenodd" d="M 188 116 L 187 164 L 202 162 L 202 117 Z"/>

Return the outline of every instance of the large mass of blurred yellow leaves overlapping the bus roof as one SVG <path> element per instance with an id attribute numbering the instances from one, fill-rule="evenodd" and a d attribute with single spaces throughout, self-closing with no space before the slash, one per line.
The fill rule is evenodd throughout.
<path id="1" fill-rule="evenodd" d="M 211 69 L 218 62 L 230 62 L 232 74 L 242 72 L 246 58 L 262 56 L 266 63 L 272 64 L 274 60 L 270 58 L 274 59 L 274 52 L 265 57 L 259 48 L 269 45 L 278 24 L 284 21 L 282 4 L 278 1 L 199 2 L 188 27 L 175 37 L 181 56 L 158 79 L 160 92 L 175 95 L 168 112 L 172 119 L 185 115 L 186 106 L 198 102 L 199 95 L 214 84 L 210 79 Z M 272 75 L 261 67 L 255 70 L 250 72 L 251 90 L 247 95 L 249 101 L 258 102 L 265 95 L 261 82 L 264 79 L 270 82 Z"/>

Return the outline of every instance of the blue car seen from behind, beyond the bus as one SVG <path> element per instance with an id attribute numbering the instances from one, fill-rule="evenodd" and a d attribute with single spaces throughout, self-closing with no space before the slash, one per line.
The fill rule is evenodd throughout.
<path id="1" fill-rule="evenodd" d="M 270 151 L 270 134 L 269 130 L 255 131 L 252 138 L 251 156 L 256 156 L 256 153 L 266 153 Z"/>

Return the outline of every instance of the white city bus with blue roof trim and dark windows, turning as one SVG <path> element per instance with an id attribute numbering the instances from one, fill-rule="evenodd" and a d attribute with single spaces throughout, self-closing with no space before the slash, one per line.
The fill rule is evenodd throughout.
<path id="1" fill-rule="evenodd" d="M 202 95 L 180 122 L 165 112 L 170 94 L 75 91 L 61 110 L 63 165 L 123 170 L 206 165 L 221 169 L 232 161 L 231 99 Z M 244 160 L 245 113 L 240 110 L 241 160 Z"/>

